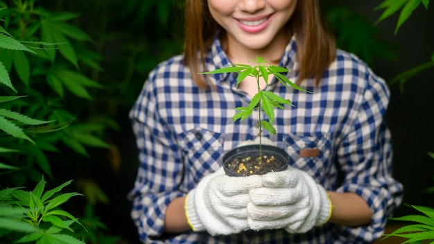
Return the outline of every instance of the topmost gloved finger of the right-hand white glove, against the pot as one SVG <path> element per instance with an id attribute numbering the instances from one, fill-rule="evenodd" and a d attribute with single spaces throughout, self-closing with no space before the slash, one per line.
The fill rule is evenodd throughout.
<path id="1" fill-rule="evenodd" d="M 295 187 L 299 182 L 300 174 L 295 171 L 286 170 L 280 172 L 266 173 L 262 176 L 262 183 L 266 187 Z"/>

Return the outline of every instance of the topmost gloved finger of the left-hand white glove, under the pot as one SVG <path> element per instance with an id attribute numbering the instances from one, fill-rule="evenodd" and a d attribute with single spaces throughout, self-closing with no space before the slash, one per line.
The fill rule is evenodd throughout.
<path id="1" fill-rule="evenodd" d="M 262 186 L 260 175 L 250 175 L 248 177 L 221 175 L 212 179 L 209 184 L 224 195 L 248 193 L 250 189 Z"/>

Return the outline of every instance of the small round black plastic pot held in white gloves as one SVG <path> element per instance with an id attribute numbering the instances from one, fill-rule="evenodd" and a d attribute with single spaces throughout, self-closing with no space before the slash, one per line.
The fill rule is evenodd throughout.
<path id="1" fill-rule="evenodd" d="M 284 171 L 286 170 L 286 168 L 288 168 L 290 157 L 285 150 L 278 148 L 277 146 L 270 146 L 270 145 L 262 145 L 261 150 L 262 150 L 263 157 L 265 157 L 266 159 L 273 159 L 273 160 L 277 159 L 279 164 L 275 165 L 275 167 L 273 168 L 270 168 L 267 172 L 261 172 L 261 173 L 252 172 L 250 173 L 251 175 L 263 175 L 271 171 L 273 172 Z M 258 158 L 259 156 L 260 156 L 259 144 L 241 146 L 230 150 L 225 154 L 225 156 L 223 156 L 223 162 L 222 162 L 226 175 L 245 176 L 244 173 L 236 172 L 236 168 L 238 168 L 238 166 L 236 167 L 234 166 L 233 163 L 234 159 L 236 159 L 236 162 L 239 163 L 238 159 L 241 160 L 249 157 Z M 263 163 L 265 164 L 266 160 Z"/>

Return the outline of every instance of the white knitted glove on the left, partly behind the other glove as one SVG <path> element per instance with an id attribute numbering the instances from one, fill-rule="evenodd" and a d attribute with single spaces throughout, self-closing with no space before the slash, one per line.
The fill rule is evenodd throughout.
<path id="1" fill-rule="evenodd" d="M 260 186 L 260 175 L 229 177 L 223 168 L 203 177 L 186 195 L 185 213 L 191 229 L 212 236 L 249 229 L 249 190 Z"/>

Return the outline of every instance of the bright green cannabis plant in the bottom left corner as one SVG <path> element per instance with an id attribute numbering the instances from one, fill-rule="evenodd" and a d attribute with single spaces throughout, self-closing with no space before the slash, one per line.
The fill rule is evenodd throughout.
<path id="1" fill-rule="evenodd" d="M 71 235 L 78 219 L 59 209 L 60 204 L 79 193 L 60 193 L 71 180 L 49 191 L 42 180 L 33 191 L 20 188 L 0 190 L 0 238 L 10 243 L 85 244 Z"/>

